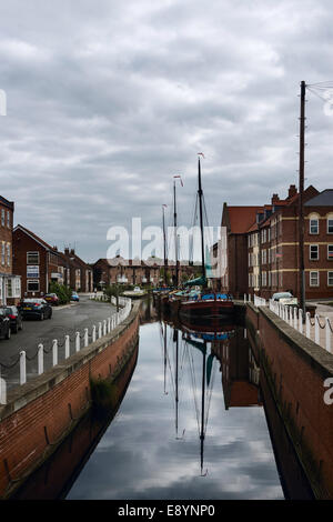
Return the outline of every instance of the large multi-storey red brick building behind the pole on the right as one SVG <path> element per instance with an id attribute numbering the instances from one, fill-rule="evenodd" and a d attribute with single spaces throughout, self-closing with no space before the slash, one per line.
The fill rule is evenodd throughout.
<path id="1" fill-rule="evenodd" d="M 252 223 L 249 225 L 249 221 Z M 305 298 L 333 298 L 333 190 L 304 191 Z M 222 214 L 222 273 L 215 288 L 241 298 L 274 292 L 300 297 L 299 193 L 290 185 L 283 200 L 273 194 L 263 207 L 228 207 Z M 215 245 L 215 248 L 218 244 Z"/>

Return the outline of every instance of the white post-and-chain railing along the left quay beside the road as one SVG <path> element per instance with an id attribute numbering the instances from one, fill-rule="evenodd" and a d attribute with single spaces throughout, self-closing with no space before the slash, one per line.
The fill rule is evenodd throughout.
<path id="1" fill-rule="evenodd" d="M 114 298 L 115 300 L 115 298 Z M 112 304 L 115 304 L 111 300 Z M 1 368 L 13 369 L 19 364 L 19 384 L 26 384 L 27 382 L 27 361 L 32 361 L 37 358 L 37 374 L 41 375 L 44 373 L 44 354 L 50 353 L 52 355 L 52 367 L 56 367 L 59 363 L 59 348 L 64 349 L 64 360 L 70 358 L 70 344 L 74 343 L 74 352 L 79 352 L 81 348 L 87 348 L 90 343 L 95 342 L 98 339 L 109 334 L 114 328 L 117 328 L 122 321 L 124 321 L 132 308 L 131 299 L 119 298 L 119 304 L 122 307 L 118 312 L 114 312 L 108 319 L 99 321 L 98 324 L 89 328 L 84 328 L 83 332 L 77 331 L 74 337 L 69 334 L 64 335 L 63 342 L 60 342 L 58 339 L 52 341 L 51 350 L 47 351 L 42 343 L 38 344 L 37 352 L 32 358 L 29 358 L 24 350 L 19 352 L 19 355 L 14 363 L 6 365 L 0 363 L 0 404 L 7 404 L 7 381 L 1 378 Z"/>

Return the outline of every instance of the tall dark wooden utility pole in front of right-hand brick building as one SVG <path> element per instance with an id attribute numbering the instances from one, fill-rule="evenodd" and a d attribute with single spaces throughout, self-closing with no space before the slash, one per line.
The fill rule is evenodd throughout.
<path id="1" fill-rule="evenodd" d="M 299 197 L 299 288 L 300 308 L 305 321 L 305 272 L 304 272 L 304 149 L 305 149 L 305 81 L 301 81 L 301 113 L 300 113 L 300 197 Z"/>

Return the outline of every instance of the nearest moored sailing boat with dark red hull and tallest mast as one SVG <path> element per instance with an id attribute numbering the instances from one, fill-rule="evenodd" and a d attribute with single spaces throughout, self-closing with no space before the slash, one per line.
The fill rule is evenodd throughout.
<path id="1" fill-rule="evenodd" d="M 201 277 L 189 280 L 184 283 L 185 288 L 201 287 L 200 291 L 188 290 L 176 292 L 170 295 L 170 304 L 174 313 L 184 318 L 222 318 L 234 312 L 234 302 L 230 294 L 213 292 L 208 289 L 206 265 L 204 252 L 204 228 L 203 228 L 203 190 L 201 183 L 201 162 L 200 152 L 198 154 L 198 197 L 200 212 L 200 233 L 201 233 Z"/>

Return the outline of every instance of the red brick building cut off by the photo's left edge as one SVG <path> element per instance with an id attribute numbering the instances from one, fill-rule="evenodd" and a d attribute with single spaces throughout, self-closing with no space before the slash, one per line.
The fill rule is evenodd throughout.
<path id="1" fill-rule="evenodd" d="M 0 197 L 0 303 L 13 304 L 21 297 L 21 279 L 13 275 L 12 223 L 14 203 Z"/>

